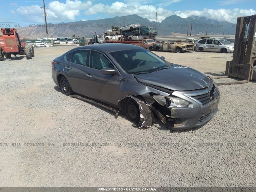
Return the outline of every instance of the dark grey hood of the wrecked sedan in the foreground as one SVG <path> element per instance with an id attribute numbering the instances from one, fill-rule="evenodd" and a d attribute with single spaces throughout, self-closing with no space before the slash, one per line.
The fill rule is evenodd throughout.
<path id="1" fill-rule="evenodd" d="M 203 89 L 210 83 L 210 79 L 201 72 L 176 64 L 168 69 L 134 75 L 134 77 L 142 84 L 160 86 L 175 91 Z"/>

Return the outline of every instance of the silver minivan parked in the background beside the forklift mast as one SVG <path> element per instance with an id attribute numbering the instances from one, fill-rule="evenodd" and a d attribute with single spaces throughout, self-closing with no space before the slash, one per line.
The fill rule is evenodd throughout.
<path id="1" fill-rule="evenodd" d="M 221 53 L 233 53 L 234 44 L 225 39 L 201 39 L 196 43 L 196 51 L 212 51 Z"/>

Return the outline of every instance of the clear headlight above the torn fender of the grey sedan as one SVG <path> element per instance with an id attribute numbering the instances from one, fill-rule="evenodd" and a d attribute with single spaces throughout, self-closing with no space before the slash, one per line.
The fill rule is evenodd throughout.
<path id="1" fill-rule="evenodd" d="M 166 104 L 170 107 L 185 107 L 189 105 L 188 101 L 178 97 L 154 95 L 153 98 L 162 106 Z"/>

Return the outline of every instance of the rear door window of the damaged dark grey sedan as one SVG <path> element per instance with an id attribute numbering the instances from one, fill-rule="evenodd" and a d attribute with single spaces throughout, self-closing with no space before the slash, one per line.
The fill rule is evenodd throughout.
<path id="1" fill-rule="evenodd" d="M 88 50 L 77 50 L 66 55 L 66 60 L 72 63 L 86 66 Z"/>

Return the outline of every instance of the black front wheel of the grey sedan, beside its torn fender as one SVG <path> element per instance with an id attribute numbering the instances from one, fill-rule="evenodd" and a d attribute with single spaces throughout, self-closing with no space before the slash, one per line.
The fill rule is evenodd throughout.
<path id="1" fill-rule="evenodd" d="M 140 109 L 133 99 L 128 98 L 122 102 L 122 111 L 131 122 L 138 123 L 140 121 Z"/>

